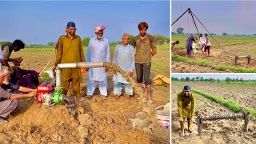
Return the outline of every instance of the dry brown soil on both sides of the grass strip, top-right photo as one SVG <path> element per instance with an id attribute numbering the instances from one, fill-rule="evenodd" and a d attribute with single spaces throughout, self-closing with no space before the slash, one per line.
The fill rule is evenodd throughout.
<path id="1" fill-rule="evenodd" d="M 245 67 L 255 70 L 256 69 L 256 43 L 247 43 L 244 45 L 234 45 L 234 46 L 222 46 L 222 48 L 225 50 L 222 50 L 221 47 L 214 47 L 210 49 L 210 56 L 207 56 L 206 54 L 202 54 L 200 50 L 198 50 L 198 53 L 194 54 L 192 53 L 191 59 L 198 60 L 198 59 L 204 59 L 209 62 L 212 62 L 214 65 L 228 65 L 228 66 L 235 66 L 234 64 L 234 57 L 235 55 L 238 56 L 246 56 L 250 55 L 252 58 L 250 64 L 247 64 L 246 59 L 239 59 L 238 60 L 238 66 L 239 67 Z M 178 54 L 183 57 L 186 57 L 186 49 L 185 48 L 174 48 L 174 52 L 172 54 Z M 184 67 L 184 69 L 176 68 L 176 65 L 172 65 L 172 72 L 179 73 L 179 72 L 198 72 L 198 69 L 202 69 L 202 71 L 206 72 L 232 72 L 231 70 L 225 70 L 225 71 L 219 71 L 219 70 L 212 70 L 210 67 L 204 67 L 204 66 L 198 66 L 196 64 L 187 64 L 186 62 L 183 62 L 182 64 L 178 65 L 178 67 Z M 199 71 L 200 71 L 199 70 Z"/>

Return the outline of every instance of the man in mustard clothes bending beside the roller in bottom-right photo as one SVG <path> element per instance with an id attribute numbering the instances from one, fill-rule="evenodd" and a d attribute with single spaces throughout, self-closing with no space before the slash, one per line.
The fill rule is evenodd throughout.
<path id="1" fill-rule="evenodd" d="M 190 86 L 184 86 L 181 93 L 178 94 L 178 121 L 181 124 L 181 137 L 185 136 L 184 133 L 184 120 L 187 118 L 188 131 L 192 133 L 191 126 L 194 121 L 194 110 L 195 110 L 195 96 L 190 90 Z"/>

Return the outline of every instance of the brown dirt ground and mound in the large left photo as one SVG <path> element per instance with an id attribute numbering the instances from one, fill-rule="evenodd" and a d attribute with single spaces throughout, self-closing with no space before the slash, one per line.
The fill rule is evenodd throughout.
<path id="1" fill-rule="evenodd" d="M 158 50 L 154 60 L 158 62 L 162 55 L 169 50 Z M 112 52 L 113 53 L 113 52 Z M 25 49 L 14 52 L 12 57 L 22 56 L 22 68 L 40 71 L 50 62 L 54 63 L 54 50 L 52 49 Z M 169 59 L 169 54 L 166 59 Z M 153 61 L 154 61 L 153 60 Z M 167 63 L 167 62 L 166 62 Z M 162 63 L 162 65 L 165 65 Z M 170 69 L 170 65 L 167 65 Z M 152 78 L 154 74 L 166 73 L 155 70 L 152 66 Z M 162 128 L 155 121 L 154 114 L 145 116 L 153 125 L 148 129 L 135 129 L 133 126 L 136 114 L 142 111 L 141 105 L 136 101 L 137 94 L 131 101 L 127 101 L 127 95 L 114 100 L 112 72 L 109 72 L 108 93 L 106 101 L 102 101 L 98 89 L 94 98 L 89 100 L 86 96 L 86 74 L 82 74 L 82 97 L 75 103 L 77 118 L 68 113 L 65 105 L 54 106 L 51 109 L 42 108 L 34 98 L 22 99 L 18 109 L 15 110 L 9 122 L 0 127 L 0 142 L 3 143 L 170 143 L 170 130 Z M 135 78 L 135 77 L 134 77 Z M 154 104 L 164 105 L 170 102 L 170 86 L 153 86 Z M 70 93 L 72 94 L 72 92 Z M 69 95 L 69 94 L 68 94 Z"/>

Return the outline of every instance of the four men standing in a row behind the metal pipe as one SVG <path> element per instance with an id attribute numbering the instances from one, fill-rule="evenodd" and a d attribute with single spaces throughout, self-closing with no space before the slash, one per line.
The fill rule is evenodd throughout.
<path id="1" fill-rule="evenodd" d="M 96 37 L 91 38 L 87 51 L 86 58 L 82 50 L 81 38 L 75 34 L 76 27 L 74 22 L 68 22 L 66 26 L 66 35 L 62 35 L 56 46 L 56 61 L 54 63 L 55 70 L 59 63 L 73 62 L 111 62 L 110 60 L 110 45 L 106 38 L 103 38 L 106 26 L 96 26 L 94 32 Z M 151 80 L 150 68 L 151 58 L 157 53 L 156 42 L 154 37 L 146 34 L 148 24 L 140 22 L 138 30 L 140 34 L 136 36 L 129 44 L 129 34 L 122 35 L 122 44 L 115 47 L 113 63 L 121 67 L 127 74 L 132 77 L 134 68 L 136 69 L 138 86 L 142 88 L 142 82 L 146 85 L 148 94 L 148 102 L 153 103 L 151 97 Z M 136 48 L 136 49 L 134 49 Z M 136 50 L 136 54 L 135 54 Z M 87 78 L 86 94 L 88 98 L 92 98 L 94 90 L 98 84 L 102 99 L 107 98 L 107 71 L 108 67 L 90 68 Z M 122 87 L 125 86 L 126 93 L 130 96 L 133 94 L 133 89 L 129 86 L 126 79 L 121 74 L 114 71 L 114 95 L 118 99 L 120 97 Z M 69 90 L 70 82 L 74 93 L 74 101 L 76 96 L 80 95 L 80 82 L 82 81 L 80 69 L 62 69 L 62 87 L 63 94 Z"/>

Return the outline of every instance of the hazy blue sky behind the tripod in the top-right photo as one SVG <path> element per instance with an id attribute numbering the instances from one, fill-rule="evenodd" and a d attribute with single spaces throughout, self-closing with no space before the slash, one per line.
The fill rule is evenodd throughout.
<path id="1" fill-rule="evenodd" d="M 256 1 L 172 1 L 171 4 L 171 22 L 190 8 L 202 24 L 215 34 L 256 34 Z M 184 32 L 196 32 L 188 14 L 184 14 L 171 31 L 176 31 L 178 26 L 186 29 Z M 206 33 L 201 25 L 198 29 L 199 33 Z"/>

